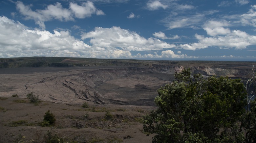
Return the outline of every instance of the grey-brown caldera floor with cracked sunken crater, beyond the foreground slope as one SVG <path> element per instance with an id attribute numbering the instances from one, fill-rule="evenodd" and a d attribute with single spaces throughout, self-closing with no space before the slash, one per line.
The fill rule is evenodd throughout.
<path id="1" fill-rule="evenodd" d="M 1 69 L 1 96 L 30 92 L 55 103 L 154 105 L 156 90 L 173 74 L 152 68 L 75 67 Z"/>

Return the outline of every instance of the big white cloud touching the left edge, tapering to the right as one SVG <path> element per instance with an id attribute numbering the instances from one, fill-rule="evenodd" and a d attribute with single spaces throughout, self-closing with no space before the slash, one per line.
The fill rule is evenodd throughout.
<path id="1" fill-rule="evenodd" d="M 66 52 L 90 50 L 90 46 L 75 39 L 69 31 L 31 30 L 25 25 L 0 17 L 0 53 L 18 53 L 16 56 L 53 56 Z M 57 56 L 54 55 L 54 56 Z"/>

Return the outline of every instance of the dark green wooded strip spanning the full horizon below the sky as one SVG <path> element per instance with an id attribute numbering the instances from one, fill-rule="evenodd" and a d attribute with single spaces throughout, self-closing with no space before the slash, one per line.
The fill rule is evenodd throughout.
<path id="1" fill-rule="evenodd" d="M 77 67 L 77 66 L 129 66 L 163 67 L 180 65 L 183 67 L 222 67 L 251 68 L 256 62 L 248 61 L 177 61 L 177 60 L 136 60 L 136 59 L 97 59 L 78 57 L 15 57 L 0 58 L 0 68 L 19 67 Z"/>

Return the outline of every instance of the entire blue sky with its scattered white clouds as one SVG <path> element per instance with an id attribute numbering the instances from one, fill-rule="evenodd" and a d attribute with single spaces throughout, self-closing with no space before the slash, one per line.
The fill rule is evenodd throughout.
<path id="1" fill-rule="evenodd" d="M 1 0 L 0 58 L 256 61 L 256 0 Z"/>

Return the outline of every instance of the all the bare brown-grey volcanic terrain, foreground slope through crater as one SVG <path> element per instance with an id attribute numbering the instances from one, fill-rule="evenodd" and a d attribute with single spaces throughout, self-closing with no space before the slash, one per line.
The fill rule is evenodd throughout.
<path id="1" fill-rule="evenodd" d="M 62 60 L 62 63 L 79 62 Z M 81 67 L 0 69 L 0 142 L 44 142 L 47 131 L 76 142 L 151 142 L 142 132 L 141 117 L 155 109 L 160 86 L 189 67 L 205 76 L 249 76 L 255 62 L 139 61 L 132 64 Z M 143 66 L 141 66 L 143 65 Z M 29 103 L 33 92 L 42 101 Z M 17 97 L 11 97 L 17 94 Z M 86 102 L 89 108 L 81 107 Z M 53 127 L 41 127 L 46 111 L 56 117 Z M 113 119 L 104 119 L 109 111 Z M 21 124 L 14 124 L 17 121 Z M 14 124 L 14 125 L 13 125 Z"/>

